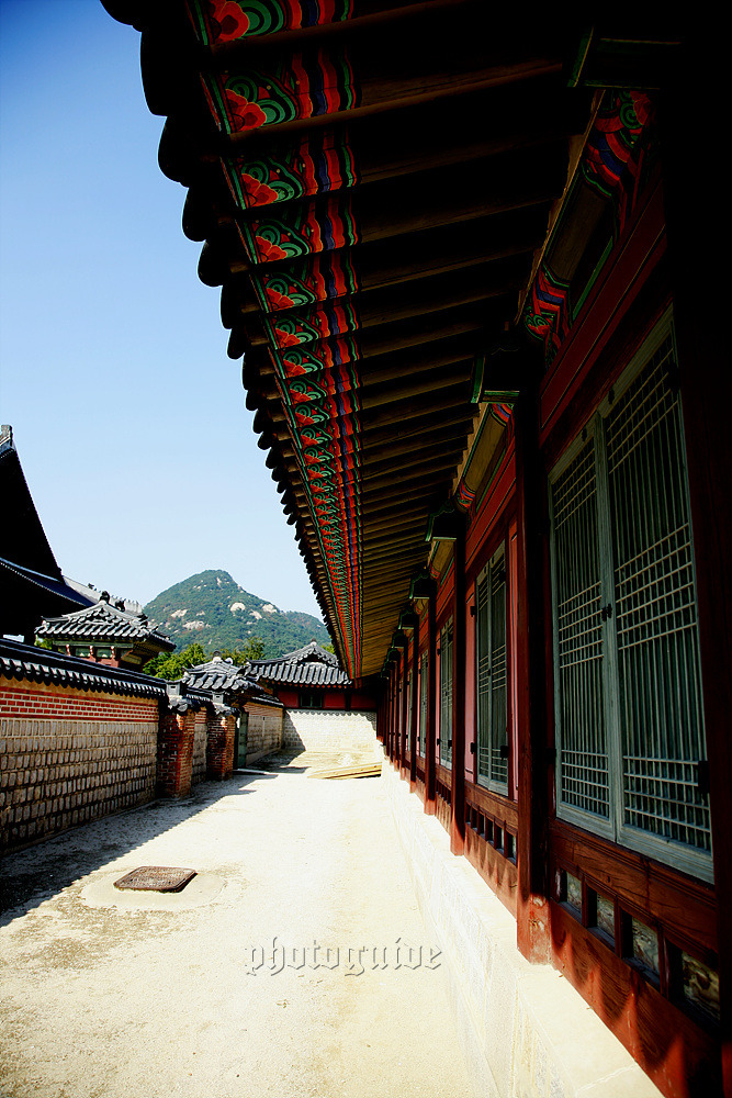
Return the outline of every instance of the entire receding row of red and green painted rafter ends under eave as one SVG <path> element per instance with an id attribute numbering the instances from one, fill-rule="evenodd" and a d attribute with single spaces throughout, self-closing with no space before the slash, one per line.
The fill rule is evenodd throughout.
<path id="1" fill-rule="evenodd" d="M 252 35 L 346 20 L 352 7 L 353 0 L 189 0 L 200 43 L 214 47 L 202 87 L 226 145 L 219 163 L 326 565 L 334 625 L 346 665 L 357 674 L 361 421 L 352 257 L 359 171 L 340 119 L 307 135 L 286 124 L 348 112 L 358 107 L 359 90 L 344 48 L 283 52 L 257 68 L 247 66 L 247 57 L 257 56 L 249 51 L 217 51 Z M 256 132 L 261 137 L 246 139 Z"/>

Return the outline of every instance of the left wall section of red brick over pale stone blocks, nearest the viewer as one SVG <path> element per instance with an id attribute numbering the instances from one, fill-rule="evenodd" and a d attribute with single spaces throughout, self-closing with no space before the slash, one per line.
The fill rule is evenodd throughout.
<path id="1" fill-rule="evenodd" d="M 149 800 L 158 704 L 0 677 L 0 845 Z"/>

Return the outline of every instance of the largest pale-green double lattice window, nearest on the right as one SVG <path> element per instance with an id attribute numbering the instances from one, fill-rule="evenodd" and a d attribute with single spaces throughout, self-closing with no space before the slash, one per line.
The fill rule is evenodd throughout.
<path id="1" fill-rule="evenodd" d="M 669 332 L 638 367 L 552 477 L 558 799 L 566 818 L 710 878 L 694 554 Z"/>

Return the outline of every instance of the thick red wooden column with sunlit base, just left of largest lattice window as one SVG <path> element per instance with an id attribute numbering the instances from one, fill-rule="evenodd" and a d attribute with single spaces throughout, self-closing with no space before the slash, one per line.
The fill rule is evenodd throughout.
<path id="1" fill-rule="evenodd" d="M 539 453 L 538 381 L 514 406 L 517 567 L 518 897 L 517 943 L 529 961 L 550 956 L 544 649 L 544 475 Z"/>

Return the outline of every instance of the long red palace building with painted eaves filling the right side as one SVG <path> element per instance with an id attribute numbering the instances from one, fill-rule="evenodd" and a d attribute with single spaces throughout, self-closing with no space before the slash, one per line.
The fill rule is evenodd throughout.
<path id="1" fill-rule="evenodd" d="M 663 1094 L 732 1095 L 707 29 L 105 4 L 392 774 Z"/>

